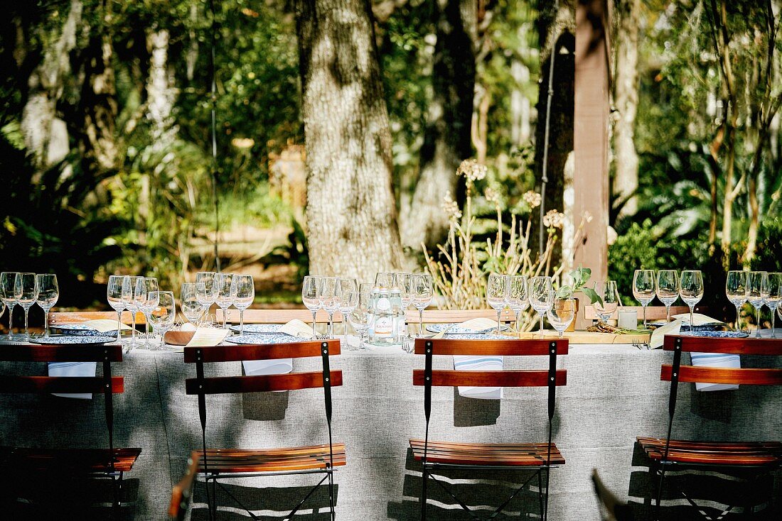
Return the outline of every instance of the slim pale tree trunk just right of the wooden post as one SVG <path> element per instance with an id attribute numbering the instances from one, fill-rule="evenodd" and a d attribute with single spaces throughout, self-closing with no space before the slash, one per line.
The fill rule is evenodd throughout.
<path id="1" fill-rule="evenodd" d="M 638 211 L 637 199 L 630 195 L 638 189 L 638 154 L 633 137 L 638 108 L 640 0 L 622 0 L 618 10 L 620 20 L 616 38 L 614 99 L 619 110 L 619 120 L 614 126 L 614 194 L 626 200 L 619 215 L 632 216 Z"/>

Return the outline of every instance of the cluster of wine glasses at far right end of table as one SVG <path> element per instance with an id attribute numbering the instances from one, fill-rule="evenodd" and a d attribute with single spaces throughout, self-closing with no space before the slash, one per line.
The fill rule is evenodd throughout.
<path id="1" fill-rule="evenodd" d="M 776 338 L 777 313 L 782 311 L 782 273 L 765 271 L 729 271 L 725 281 L 725 294 L 731 304 L 736 306 L 736 329 L 741 327 L 739 309 L 744 302 L 749 302 L 755 308 L 758 327 L 755 337 L 760 336 L 760 311 L 765 305 L 771 310 L 771 337 Z M 782 312 L 780 312 L 782 316 Z"/>

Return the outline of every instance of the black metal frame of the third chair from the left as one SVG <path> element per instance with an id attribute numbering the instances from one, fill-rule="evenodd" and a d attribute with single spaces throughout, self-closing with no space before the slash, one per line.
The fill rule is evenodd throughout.
<path id="1" fill-rule="evenodd" d="M 494 511 L 486 518 L 486 519 L 494 519 L 495 517 L 500 515 L 500 512 L 502 512 L 506 506 L 513 500 L 513 498 L 518 495 L 519 492 L 524 490 L 524 488 L 529 484 L 530 481 L 533 480 L 533 478 L 537 477 L 538 481 L 538 501 L 540 504 L 540 515 L 541 519 L 545 520 L 547 519 L 548 515 L 548 485 L 549 485 L 549 476 L 551 473 L 552 468 L 557 468 L 558 465 L 551 465 L 551 421 L 554 418 L 554 409 L 556 405 L 556 375 L 557 375 L 557 341 L 551 341 L 549 344 L 549 355 L 548 355 L 548 453 L 546 462 L 541 464 L 540 466 L 525 466 L 523 468 L 518 468 L 514 466 L 486 466 L 486 465 L 460 465 L 460 464 L 449 464 L 449 463 L 440 463 L 440 462 L 428 462 L 426 460 L 427 453 L 429 451 L 429 419 L 432 414 L 432 342 L 426 341 L 425 342 L 425 367 L 424 367 L 424 413 L 426 417 L 426 430 L 425 430 L 425 438 L 424 438 L 424 456 L 423 459 L 421 459 L 421 466 L 423 466 L 423 472 L 421 476 L 421 521 L 426 521 L 426 503 L 427 503 L 427 482 L 429 479 L 434 481 L 436 484 L 439 485 L 443 489 L 443 491 L 446 491 L 446 493 L 451 497 L 454 498 L 454 501 L 457 501 L 457 504 L 461 507 L 461 509 L 465 510 L 465 512 L 468 513 L 468 515 L 472 519 L 482 519 L 479 516 L 475 515 L 475 512 L 473 512 L 467 505 L 465 505 L 464 501 L 461 501 L 457 497 L 456 494 L 454 494 L 453 491 L 451 491 L 445 484 L 443 484 L 442 481 L 436 479 L 436 477 L 433 475 L 434 471 L 438 469 L 479 469 L 479 470 L 499 470 L 499 471 L 515 471 L 515 472 L 524 472 L 524 471 L 534 471 L 529 478 L 527 478 L 520 487 L 518 487 L 513 494 L 511 494 L 505 501 L 503 501 L 500 506 L 497 507 L 497 509 L 494 509 Z M 543 492 L 543 469 L 546 470 L 546 487 L 545 492 Z"/>

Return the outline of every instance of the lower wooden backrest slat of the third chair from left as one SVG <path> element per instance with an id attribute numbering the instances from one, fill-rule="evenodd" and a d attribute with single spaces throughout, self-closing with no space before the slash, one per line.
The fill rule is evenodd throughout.
<path id="1" fill-rule="evenodd" d="M 556 384 L 566 385 L 567 369 L 557 369 Z M 413 385 L 424 385 L 424 369 L 413 370 Z M 518 370 L 518 371 L 460 371 L 437 369 L 432 371 L 432 385 L 437 387 L 454 387 L 469 385 L 474 387 L 546 387 L 548 371 Z"/>

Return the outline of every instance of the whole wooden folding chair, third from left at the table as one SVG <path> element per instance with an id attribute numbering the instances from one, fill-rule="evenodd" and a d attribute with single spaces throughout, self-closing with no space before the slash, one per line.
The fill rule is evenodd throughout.
<path id="1" fill-rule="evenodd" d="M 511 494 L 490 518 L 497 516 L 537 476 L 538 499 L 541 519 L 546 519 L 548 510 L 549 473 L 553 466 L 565 464 L 557 445 L 551 441 L 551 419 L 554 416 L 556 387 L 567 383 L 567 371 L 557 369 L 557 356 L 568 354 L 567 339 L 561 340 L 446 340 L 417 338 L 415 354 L 425 355 L 425 369 L 414 369 L 413 384 L 424 386 L 424 413 L 426 434 L 423 440 L 411 439 L 414 459 L 421 462 L 421 520 L 426 519 L 426 486 L 429 478 L 439 484 L 451 498 L 475 516 L 467 505 L 450 489 L 437 480 L 433 473 L 440 469 L 475 469 L 496 472 L 498 470 L 534 470 L 532 476 Z M 432 369 L 433 355 L 504 355 L 526 356 L 547 355 L 548 369 L 518 371 L 457 371 Z M 432 386 L 475 386 L 475 387 L 548 387 L 548 442 L 485 444 L 451 441 L 429 441 L 429 417 L 432 412 Z M 542 476 L 546 470 L 546 487 L 543 493 Z"/>

